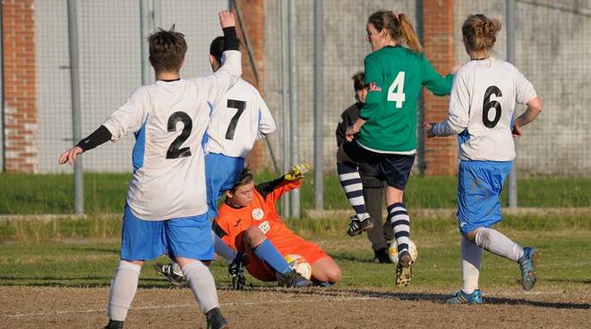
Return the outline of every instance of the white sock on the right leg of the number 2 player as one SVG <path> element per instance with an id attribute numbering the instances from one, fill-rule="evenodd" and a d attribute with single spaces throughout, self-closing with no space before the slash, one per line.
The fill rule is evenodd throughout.
<path id="1" fill-rule="evenodd" d="M 189 282 L 191 291 L 193 291 L 193 296 L 197 299 L 201 312 L 205 314 L 212 308 L 218 308 L 218 292 L 210 269 L 198 260 L 184 266 L 183 273 Z"/>

